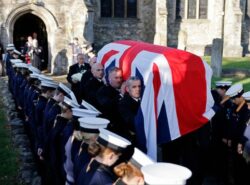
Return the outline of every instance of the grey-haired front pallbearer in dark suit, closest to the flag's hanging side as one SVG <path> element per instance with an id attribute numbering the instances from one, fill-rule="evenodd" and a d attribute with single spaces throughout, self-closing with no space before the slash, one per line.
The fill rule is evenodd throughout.
<path id="1" fill-rule="evenodd" d="M 126 93 L 119 102 L 119 113 L 122 119 L 126 137 L 135 144 L 134 118 L 140 107 L 141 80 L 138 77 L 130 77 L 126 82 Z"/>

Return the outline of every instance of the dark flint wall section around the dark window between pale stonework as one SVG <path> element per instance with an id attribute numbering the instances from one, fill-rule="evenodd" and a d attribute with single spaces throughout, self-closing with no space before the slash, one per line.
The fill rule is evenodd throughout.
<path id="1" fill-rule="evenodd" d="M 155 3 L 153 0 L 138 1 L 138 18 L 102 18 L 100 3 L 97 3 L 94 20 L 96 47 L 121 40 L 141 40 L 153 42 L 155 34 Z"/>

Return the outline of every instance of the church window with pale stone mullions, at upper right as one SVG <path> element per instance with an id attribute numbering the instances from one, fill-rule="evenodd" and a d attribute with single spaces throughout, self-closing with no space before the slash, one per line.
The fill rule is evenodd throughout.
<path id="1" fill-rule="evenodd" d="M 176 19 L 207 19 L 208 0 L 176 0 Z"/>

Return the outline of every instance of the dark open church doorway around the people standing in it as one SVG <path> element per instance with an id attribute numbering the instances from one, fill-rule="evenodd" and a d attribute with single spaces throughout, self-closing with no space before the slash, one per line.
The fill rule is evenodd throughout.
<path id="1" fill-rule="evenodd" d="M 47 69 L 48 66 L 48 39 L 46 26 L 38 16 L 26 13 L 20 16 L 14 23 L 13 42 L 19 51 L 22 51 L 28 36 L 37 34 L 41 53 L 41 69 Z"/>

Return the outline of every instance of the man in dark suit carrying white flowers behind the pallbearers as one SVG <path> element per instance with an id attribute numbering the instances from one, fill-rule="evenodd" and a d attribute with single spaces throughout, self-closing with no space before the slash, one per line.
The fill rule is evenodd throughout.
<path id="1" fill-rule="evenodd" d="M 83 54 L 78 54 L 77 55 L 77 61 L 78 63 L 73 64 L 72 66 L 70 66 L 69 68 L 69 73 L 67 76 L 67 80 L 68 82 L 71 84 L 71 90 L 74 92 L 76 99 L 78 101 L 78 103 L 81 102 L 81 95 L 80 95 L 80 80 L 81 79 L 76 79 L 76 78 L 72 78 L 73 75 L 75 74 L 84 74 L 86 73 L 88 70 L 90 70 L 90 66 L 89 64 L 87 64 L 84 61 L 84 55 Z"/>

